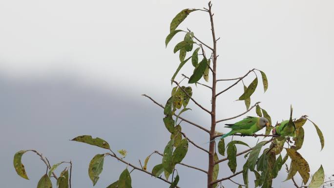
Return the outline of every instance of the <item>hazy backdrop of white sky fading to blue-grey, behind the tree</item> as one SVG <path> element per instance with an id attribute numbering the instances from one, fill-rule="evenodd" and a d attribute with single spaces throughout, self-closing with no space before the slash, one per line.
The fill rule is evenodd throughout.
<path id="1" fill-rule="evenodd" d="M 45 170 L 37 156 L 23 156 L 31 180 L 19 177 L 12 167 L 14 153 L 30 148 L 40 150 L 51 163 L 74 161 L 73 187 L 92 187 L 87 175 L 89 160 L 105 151 L 68 141 L 81 134 L 102 137 L 115 150 L 127 149 L 126 159 L 134 164 L 153 150 L 163 150 L 169 137 L 162 123 L 163 112 L 140 95 L 146 93 L 165 104 L 170 78 L 179 63 L 173 45 L 182 39 L 176 36 L 165 48 L 169 23 L 180 10 L 203 6 L 207 1 L 0 1 L 0 182 L 4 188 L 36 187 Z M 260 82 L 252 104 L 261 101 L 273 122 L 289 118 L 290 104 L 295 118 L 309 115 L 323 131 L 325 147 L 320 152 L 315 129 L 308 123 L 300 153 L 309 162 L 311 173 L 322 164 L 328 175 L 334 173 L 334 128 L 330 123 L 334 105 L 333 8 L 332 0 L 213 1 L 216 35 L 220 37 L 218 78 L 240 77 L 251 68 L 266 72 L 269 89 L 264 94 Z M 197 11 L 180 28 L 188 27 L 211 44 L 209 26 L 208 15 Z M 191 75 L 191 65 L 186 64 L 180 73 Z M 253 78 L 250 75 L 246 83 Z M 218 90 L 230 84 L 219 83 Z M 200 85 L 193 89 L 193 97 L 209 108 L 209 90 Z M 219 96 L 218 119 L 245 111 L 243 102 L 234 102 L 242 92 L 239 84 Z M 193 110 L 185 116 L 209 128 L 209 116 L 189 105 Z M 208 140 L 208 135 L 191 125 L 183 125 L 183 129 L 198 143 Z M 227 131 L 223 125 L 217 129 Z M 207 155 L 190 148 L 185 160 L 207 168 Z M 148 168 L 160 160 L 156 156 Z M 106 160 L 96 187 L 117 180 L 124 168 L 113 159 Z M 206 185 L 201 172 L 187 174 L 188 169 L 180 168 L 181 187 Z M 230 175 L 229 169 L 221 169 L 219 177 Z M 132 176 L 134 188 L 167 187 L 140 172 Z M 282 170 L 275 188 L 290 187 L 291 182 L 281 183 L 285 178 Z"/>

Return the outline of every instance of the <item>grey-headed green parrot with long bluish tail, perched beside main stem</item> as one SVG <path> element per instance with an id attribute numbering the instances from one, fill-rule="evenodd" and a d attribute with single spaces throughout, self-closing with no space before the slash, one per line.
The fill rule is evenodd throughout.
<path id="1" fill-rule="evenodd" d="M 235 123 L 235 124 L 225 124 L 232 130 L 229 133 L 224 134 L 214 140 L 222 139 L 227 136 L 230 136 L 235 133 L 241 133 L 243 135 L 252 135 L 255 132 L 261 130 L 265 126 L 269 126 L 269 121 L 265 117 L 251 117 L 247 116 L 247 118 Z"/>

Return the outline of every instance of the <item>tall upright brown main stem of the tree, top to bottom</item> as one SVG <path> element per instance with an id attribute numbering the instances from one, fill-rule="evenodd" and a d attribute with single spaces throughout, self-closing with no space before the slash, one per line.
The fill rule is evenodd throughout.
<path id="1" fill-rule="evenodd" d="M 211 11 L 211 1 L 208 3 L 209 5 L 209 16 L 210 16 L 210 23 L 211 23 L 211 34 L 212 34 L 212 41 L 213 41 L 213 50 L 212 50 L 212 89 L 211 89 L 211 128 L 210 128 L 210 138 L 209 140 L 213 139 L 213 136 L 215 135 L 215 129 L 216 129 L 216 69 L 217 69 L 217 41 L 216 36 L 214 33 L 214 24 L 213 24 L 213 14 Z M 215 165 L 214 162 L 214 149 L 215 149 L 215 142 L 209 143 L 209 167 L 208 167 L 208 188 L 212 188 L 212 174 L 213 174 L 213 167 Z"/>

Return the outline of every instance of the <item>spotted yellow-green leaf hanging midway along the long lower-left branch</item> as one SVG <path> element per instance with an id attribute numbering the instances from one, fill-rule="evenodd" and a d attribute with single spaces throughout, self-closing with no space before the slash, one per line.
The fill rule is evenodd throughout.
<path id="1" fill-rule="evenodd" d="M 97 154 L 90 161 L 88 166 L 88 176 L 90 180 L 93 182 L 93 186 L 99 180 L 99 175 L 103 170 L 103 162 L 104 162 L 104 154 Z"/>

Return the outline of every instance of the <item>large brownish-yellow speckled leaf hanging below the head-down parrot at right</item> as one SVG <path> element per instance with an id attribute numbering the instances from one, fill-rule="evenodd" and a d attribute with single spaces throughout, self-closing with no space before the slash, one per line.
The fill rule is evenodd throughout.
<path id="1" fill-rule="evenodd" d="M 296 150 L 290 148 L 286 148 L 286 150 L 292 160 L 293 166 L 297 168 L 297 171 L 303 178 L 304 184 L 306 184 L 310 178 L 309 164 Z"/>

